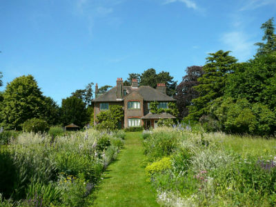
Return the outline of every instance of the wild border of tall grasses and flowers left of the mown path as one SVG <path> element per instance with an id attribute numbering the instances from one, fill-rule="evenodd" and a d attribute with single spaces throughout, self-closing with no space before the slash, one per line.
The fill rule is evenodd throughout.
<path id="1" fill-rule="evenodd" d="M 92 129 L 64 136 L 22 133 L 0 151 L 0 206 L 88 205 L 122 138 L 121 131 Z"/>

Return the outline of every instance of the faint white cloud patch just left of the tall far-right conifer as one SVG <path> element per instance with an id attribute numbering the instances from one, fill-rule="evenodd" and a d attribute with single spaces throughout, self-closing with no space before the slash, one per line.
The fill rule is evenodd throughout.
<path id="1" fill-rule="evenodd" d="M 233 55 L 239 61 L 247 61 L 255 52 L 254 42 L 250 41 L 244 32 L 233 31 L 224 33 L 220 41 L 227 46 L 227 50 L 233 52 Z"/>

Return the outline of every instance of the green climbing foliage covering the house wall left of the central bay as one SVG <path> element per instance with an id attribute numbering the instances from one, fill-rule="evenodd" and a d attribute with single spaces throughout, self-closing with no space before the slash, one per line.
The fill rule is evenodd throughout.
<path id="1" fill-rule="evenodd" d="M 119 105 L 110 106 L 109 110 L 101 111 L 97 115 L 96 128 L 115 130 L 119 126 L 119 121 L 124 117 L 123 108 Z"/>

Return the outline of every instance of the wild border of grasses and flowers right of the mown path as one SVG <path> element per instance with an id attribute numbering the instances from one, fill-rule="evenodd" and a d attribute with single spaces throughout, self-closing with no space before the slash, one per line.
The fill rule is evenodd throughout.
<path id="1" fill-rule="evenodd" d="M 173 128 L 144 132 L 144 137 L 145 154 L 152 161 L 146 170 L 160 204 L 275 206 L 273 137 Z"/>

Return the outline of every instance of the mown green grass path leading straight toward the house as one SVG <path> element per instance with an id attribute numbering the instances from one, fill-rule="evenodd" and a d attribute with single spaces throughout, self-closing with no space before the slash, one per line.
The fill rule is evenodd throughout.
<path id="1" fill-rule="evenodd" d="M 141 132 L 127 132 L 124 149 L 97 187 L 94 206 L 159 206 L 155 190 L 146 181 L 144 159 Z"/>

